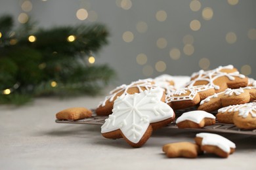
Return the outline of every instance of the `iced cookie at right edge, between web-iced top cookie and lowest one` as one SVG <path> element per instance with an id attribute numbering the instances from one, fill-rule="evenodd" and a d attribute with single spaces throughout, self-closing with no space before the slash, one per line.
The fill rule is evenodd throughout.
<path id="1" fill-rule="evenodd" d="M 238 105 L 248 103 L 256 99 L 256 86 L 247 86 L 238 89 L 226 89 L 224 92 L 215 93 L 200 102 L 198 110 L 211 112 L 227 107 L 229 105 Z"/>

